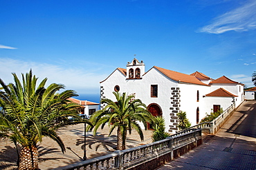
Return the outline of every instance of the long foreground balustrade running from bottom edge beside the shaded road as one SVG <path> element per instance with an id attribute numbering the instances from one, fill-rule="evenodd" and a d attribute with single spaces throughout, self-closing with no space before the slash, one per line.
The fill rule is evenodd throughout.
<path id="1" fill-rule="evenodd" d="M 201 145 L 201 129 L 188 129 L 165 140 L 92 158 L 60 169 L 155 169 Z"/>

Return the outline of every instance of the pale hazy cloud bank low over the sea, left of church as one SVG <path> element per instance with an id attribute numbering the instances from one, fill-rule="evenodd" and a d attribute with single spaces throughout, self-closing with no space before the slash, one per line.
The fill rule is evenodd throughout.
<path id="1" fill-rule="evenodd" d="M 29 72 L 30 68 L 39 81 L 48 78 L 48 84 L 60 83 L 66 86 L 66 89 L 73 89 L 78 94 L 95 94 L 100 91 L 100 81 L 107 78 L 107 74 L 101 72 L 90 72 L 83 68 L 62 67 L 60 65 L 51 65 L 47 63 L 24 62 L 14 59 L 0 59 L 0 78 L 6 83 L 12 81 L 12 72 L 15 72 L 19 78 L 21 73 Z"/>

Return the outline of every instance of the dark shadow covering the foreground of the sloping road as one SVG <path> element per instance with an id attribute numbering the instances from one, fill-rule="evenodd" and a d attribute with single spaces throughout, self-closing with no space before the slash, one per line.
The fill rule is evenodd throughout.
<path id="1" fill-rule="evenodd" d="M 234 138 L 214 136 L 207 144 L 196 147 L 158 170 L 256 169 L 255 142 L 237 138 L 232 144 L 233 140 Z"/>

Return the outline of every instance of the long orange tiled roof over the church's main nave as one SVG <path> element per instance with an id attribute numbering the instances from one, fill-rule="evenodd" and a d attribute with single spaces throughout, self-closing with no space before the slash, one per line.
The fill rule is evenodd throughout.
<path id="1" fill-rule="evenodd" d="M 171 78 L 174 81 L 183 82 L 183 83 L 192 83 L 196 85 L 206 85 L 205 83 L 202 83 L 201 81 L 199 81 L 199 79 L 197 79 L 195 76 L 190 76 L 188 74 L 183 74 L 180 72 L 174 72 L 172 70 L 167 70 L 167 69 L 156 67 L 156 66 L 154 66 L 154 68 L 156 68 L 159 72 L 162 72 L 163 74 L 165 74 L 165 76 Z"/>

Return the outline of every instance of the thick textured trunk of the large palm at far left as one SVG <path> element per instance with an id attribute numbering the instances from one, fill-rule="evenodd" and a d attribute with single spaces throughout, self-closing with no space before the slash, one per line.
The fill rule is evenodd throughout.
<path id="1" fill-rule="evenodd" d="M 19 155 L 20 169 L 38 169 L 38 149 L 35 145 L 21 148 Z"/>

